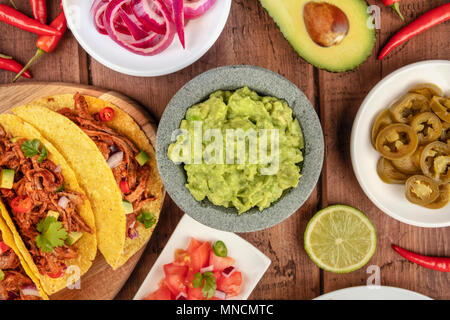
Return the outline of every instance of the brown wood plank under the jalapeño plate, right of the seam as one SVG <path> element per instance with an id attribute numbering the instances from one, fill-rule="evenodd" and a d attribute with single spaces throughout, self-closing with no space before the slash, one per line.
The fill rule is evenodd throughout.
<path id="1" fill-rule="evenodd" d="M 376 1 L 370 1 L 377 3 Z M 447 1 L 402 1 L 406 23 Z M 432 298 L 448 299 L 450 277 L 411 264 L 390 248 L 392 243 L 430 255 L 449 255 L 450 228 L 426 229 L 400 223 L 378 210 L 364 195 L 351 168 L 349 140 L 353 119 L 372 87 L 390 72 L 426 59 L 448 59 L 448 24 L 437 26 L 403 44 L 383 62 L 376 60 L 381 45 L 403 23 L 389 8 L 382 8 L 377 51 L 354 72 L 331 74 L 320 71 L 320 107 L 326 136 L 327 162 L 323 172 L 323 206 L 353 205 L 366 213 L 377 229 L 378 246 L 367 264 L 381 268 L 381 284 L 414 290 Z M 367 266 L 346 275 L 323 273 L 324 291 L 365 285 Z"/>

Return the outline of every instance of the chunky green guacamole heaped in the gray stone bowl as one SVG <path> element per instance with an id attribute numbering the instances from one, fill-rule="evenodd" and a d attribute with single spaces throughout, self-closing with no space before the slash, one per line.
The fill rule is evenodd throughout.
<path id="1" fill-rule="evenodd" d="M 288 104 L 247 87 L 192 106 L 168 150 L 197 201 L 261 211 L 301 177 L 303 134 Z"/>

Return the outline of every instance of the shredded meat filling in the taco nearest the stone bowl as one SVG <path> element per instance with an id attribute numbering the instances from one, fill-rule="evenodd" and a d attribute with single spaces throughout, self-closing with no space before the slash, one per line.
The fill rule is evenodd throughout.
<path id="1" fill-rule="evenodd" d="M 98 114 L 91 114 L 82 95 L 75 94 L 74 100 L 73 110 L 63 108 L 58 112 L 80 127 L 94 141 L 106 160 L 115 152 L 122 151 L 124 154 L 122 163 L 113 168 L 112 172 L 117 184 L 125 180 L 129 187 L 129 191 L 122 193 L 122 197 L 133 204 L 134 211 L 127 216 L 126 234 L 130 236 L 139 223 L 136 219 L 139 211 L 150 201 L 155 200 L 148 194 L 151 182 L 150 166 L 140 166 L 137 163 L 135 157 L 139 150 L 136 146 L 128 138 L 106 126 Z"/>

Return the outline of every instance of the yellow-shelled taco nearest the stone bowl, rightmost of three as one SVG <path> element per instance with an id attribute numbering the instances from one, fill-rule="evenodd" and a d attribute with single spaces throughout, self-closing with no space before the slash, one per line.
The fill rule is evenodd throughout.
<path id="1" fill-rule="evenodd" d="M 163 201 L 155 151 L 145 133 L 120 108 L 78 93 L 13 112 L 72 166 L 93 205 L 99 250 L 113 269 L 120 267 L 150 238 Z"/>

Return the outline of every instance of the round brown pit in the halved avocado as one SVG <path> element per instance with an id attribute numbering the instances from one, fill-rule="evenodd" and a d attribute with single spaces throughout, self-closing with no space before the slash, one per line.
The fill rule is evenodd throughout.
<path id="1" fill-rule="evenodd" d="M 303 9 L 303 19 L 311 39 L 321 47 L 340 44 L 348 34 L 350 22 L 338 7 L 327 2 L 310 1 Z"/>

